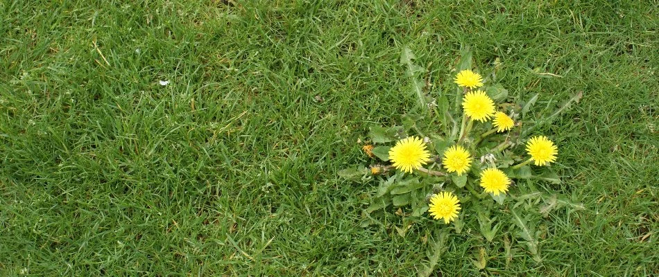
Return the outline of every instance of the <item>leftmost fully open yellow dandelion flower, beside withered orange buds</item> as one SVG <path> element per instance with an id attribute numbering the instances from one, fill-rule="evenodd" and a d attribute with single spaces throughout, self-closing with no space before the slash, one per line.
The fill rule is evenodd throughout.
<path id="1" fill-rule="evenodd" d="M 422 139 L 410 136 L 401 139 L 389 150 L 389 160 L 395 168 L 411 173 L 430 161 L 430 153 Z"/>

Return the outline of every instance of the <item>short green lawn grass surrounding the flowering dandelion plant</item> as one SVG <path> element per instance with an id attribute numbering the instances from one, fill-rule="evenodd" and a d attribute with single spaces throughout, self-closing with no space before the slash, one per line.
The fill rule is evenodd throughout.
<path id="1" fill-rule="evenodd" d="M 414 109 L 405 45 L 434 96 L 467 46 L 536 116 L 583 92 L 536 132 L 585 209 L 542 218 L 541 263 L 451 233 L 434 276 L 657 275 L 658 4 L 3 1 L 0 275 L 417 274 L 445 225 L 361 227 L 377 185 L 336 175 Z"/>

